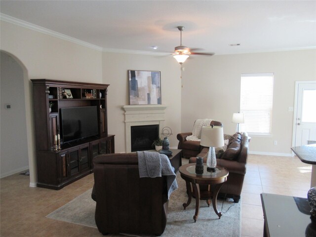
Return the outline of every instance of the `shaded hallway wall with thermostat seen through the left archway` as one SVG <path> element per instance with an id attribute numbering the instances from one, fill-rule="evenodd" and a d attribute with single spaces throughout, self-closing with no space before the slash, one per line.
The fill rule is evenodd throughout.
<path id="1" fill-rule="evenodd" d="M 1 52 L 0 177 L 28 169 L 24 72 L 8 54 Z M 9 104 L 11 109 L 5 109 Z"/>

